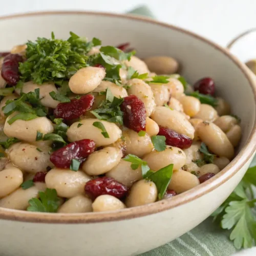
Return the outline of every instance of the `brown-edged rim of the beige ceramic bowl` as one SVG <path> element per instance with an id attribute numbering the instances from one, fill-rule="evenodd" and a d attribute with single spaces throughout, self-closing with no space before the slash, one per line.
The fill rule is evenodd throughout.
<path id="1" fill-rule="evenodd" d="M 169 25 L 163 22 L 158 22 L 152 18 L 142 17 L 134 14 L 115 14 L 109 12 L 93 12 L 93 11 L 42 11 L 42 12 L 29 12 L 21 13 L 14 15 L 7 15 L 0 17 L 0 22 L 2 20 L 7 20 L 11 18 L 18 17 L 28 17 L 28 16 L 40 16 L 40 15 L 63 15 L 63 14 L 76 14 L 76 15 L 93 15 L 93 16 L 106 16 L 106 17 L 116 17 L 124 18 L 129 20 L 138 20 L 140 22 L 156 24 L 162 27 L 170 28 L 185 34 L 188 34 L 191 37 L 197 38 L 206 44 L 214 47 L 216 50 L 225 54 L 244 74 L 248 80 L 250 87 L 254 95 L 254 102 L 256 105 L 256 79 L 253 79 L 246 66 L 233 56 L 227 49 L 217 45 L 215 42 L 212 42 L 203 36 L 197 35 L 194 32 L 190 32 L 183 28 L 179 28 L 174 25 Z M 56 223 L 56 224 L 67 224 L 67 223 L 96 223 L 96 222 L 108 222 L 108 221 L 120 221 L 126 219 L 133 219 L 138 217 L 143 217 L 146 215 L 156 214 L 164 210 L 168 210 L 185 203 L 191 202 L 194 199 L 197 199 L 215 188 L 219 187 L 221 184 L 225 183 L 228 179 L 234 176 L 239 172 L 240 168 L 252 157 L 253 153 L 256 150 L 256 117 L 254 117 L 254 126 L 252 128 L 250 137 L 243 146 L 242 150 L 238 155 L 225 167 L 222 172 L 212 177 L 210 180 L 200 184 L 199 186 L 194 187 L 180 195 L 175 196 L 172 199 L 165 199 L 155 203 L 126 208 L 117 211 L 109 212 L 86 212 L 83 214 L 50 214 L 50 213 L 41 213 L 41 212 L 29 212 L 23 210 L 14 210 L 8 208 L 0 207 L 0 219 L 3 220 L 12 220 L 12 221 L 21 221 L 21 222 L 35 222 L 35 223 Z"/>

